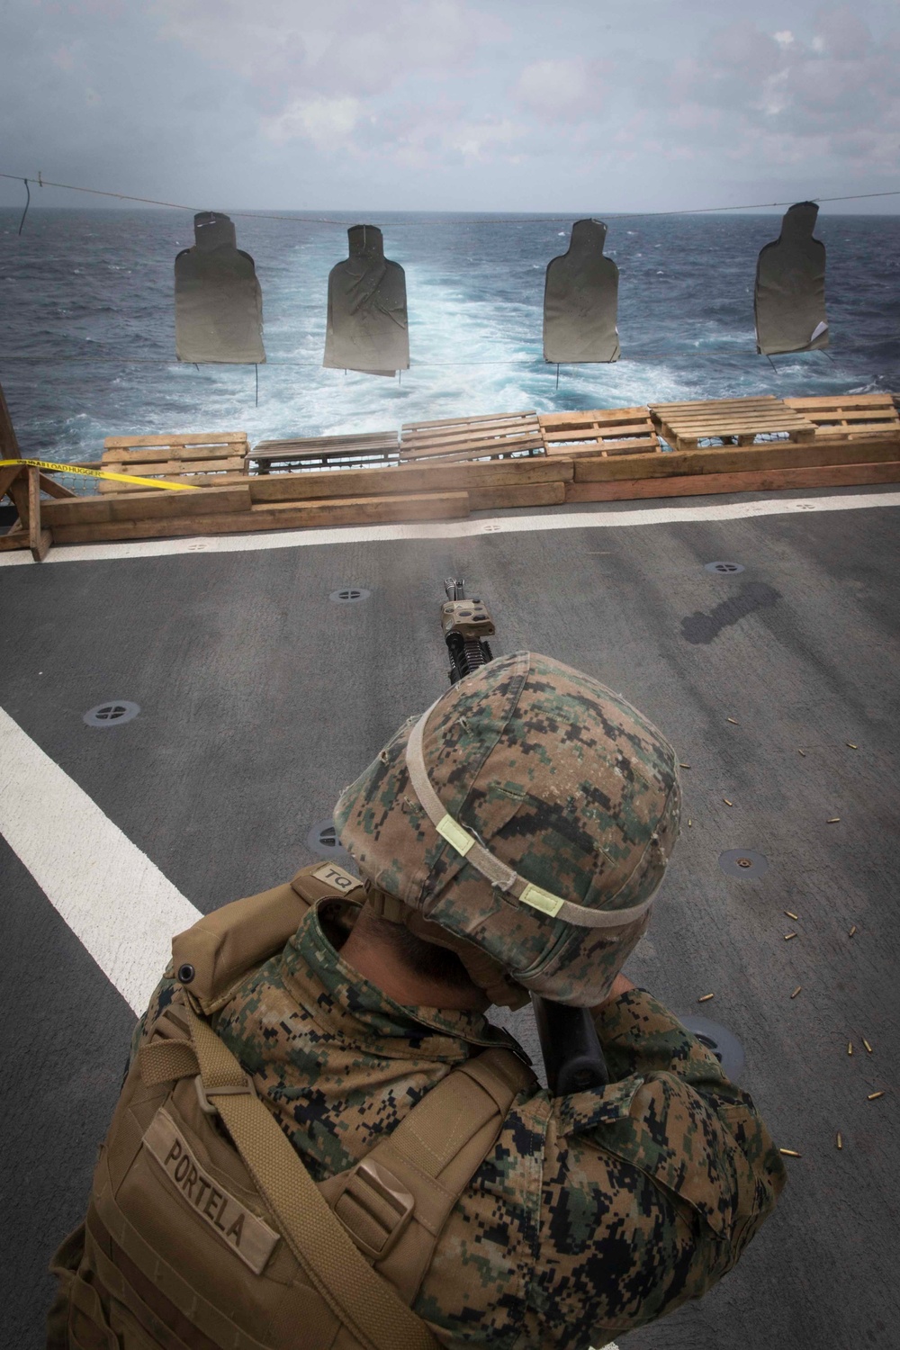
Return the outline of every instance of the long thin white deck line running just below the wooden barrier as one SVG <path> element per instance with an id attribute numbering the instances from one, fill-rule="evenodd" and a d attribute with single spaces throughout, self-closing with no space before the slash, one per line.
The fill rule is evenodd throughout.
<path id="1" fill-rule="evenodd" d="M 478 520 L 398 522 L 395 525 L 341 525 L 335 529 L 281 529 L 260 535 L 198 535 L 190 539 L 148 539 L 124 544 L 67 544 L 51 548 L 45 563 L 96 563 L 130 558 L 170 558 L 175 554 L 244 554 L 262 548 L 316 548 L 322 544 L 472 539 L 478 535 L 517 535 L 552 529 L 611 529 L 629 525 L 679 525 L 691 521 L 752 520 L 757 516 L 793 516 L 797 512 L 865 510 L 900 506 L 900 491 L 831 497 L 781 494 L 762 501 L 729 501 L 675 506 L 638 506 L 613 502 L 598 510 L 565 514 L 494 516 Z M 0 567 L 32 564 L 27 551 L 0 554 Z"/>

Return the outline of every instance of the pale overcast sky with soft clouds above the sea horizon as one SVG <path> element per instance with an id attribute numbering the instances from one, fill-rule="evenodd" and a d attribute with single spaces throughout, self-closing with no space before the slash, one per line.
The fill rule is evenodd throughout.
<path id="1" fill-rule="evenodd" d="M 900 189 L 900 0 L 0 12 L 5 173 L 219 209 L 603 213 Z M 23 200 L 0 180 L 0 205 Z"/>

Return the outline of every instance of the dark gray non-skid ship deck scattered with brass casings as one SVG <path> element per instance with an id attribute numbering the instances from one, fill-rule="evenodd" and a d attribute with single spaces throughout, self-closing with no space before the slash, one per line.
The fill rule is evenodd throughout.
<path id="1" fill-rule="evenodd" d="M 497 651 L 591 672 L 691 765 L 627 973 L 739 1035 L 743 1085 L 800 1154 L 738 1269 L 627 1346 L 896 1350 L 899 524 L 892 508 L 797 510 L 0 568 L 0 706 L 208 911 L 313 860 L 310 826 L 445 687 L 441 583 L 466 576 Z M 329 601 L 352 585 L 368 599 Z M 86 728 L 112 697 L 139 717 Z M 729 849 L 768 872 L 727 876 Z M 32 1350 L 134 1015 L 1 840 L 0 882 L 0 1342 Z"/>

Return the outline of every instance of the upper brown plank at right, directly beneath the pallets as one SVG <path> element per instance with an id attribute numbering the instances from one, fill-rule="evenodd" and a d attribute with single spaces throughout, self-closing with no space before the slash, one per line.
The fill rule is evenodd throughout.
<path id="1" fill-rule="evenodd" d="M 822 446 L 816 441 L 795 446 L 780 441 L 749 446 L 746 450 L 675 451 L 671 455 L 634 455 L 627 459 L 578 459 L 575 482 L 611 482 L 626 478 L 677 478 L 683 474 L 727 474 L 762 468 L 810 468 L 824 464 L 884 463 L 900 459 L 896 446 L 885 440 L 846 441 Z"/>

